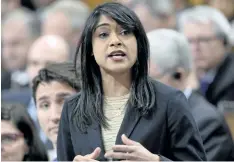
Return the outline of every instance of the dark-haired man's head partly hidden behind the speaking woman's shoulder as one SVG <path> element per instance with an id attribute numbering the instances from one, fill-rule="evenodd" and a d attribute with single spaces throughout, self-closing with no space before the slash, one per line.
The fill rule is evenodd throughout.
<path id="1" fill-rule="evenodd" d="M 63 102 L 65 98 L 80 90 L 80 78 L 77 76 L 73 63 L 58 63 L 40 70 L 33 80 L 33 97 L 38 120 L 55 150 Z M 57 157 L 51 156 L 51 160 Z"/>

